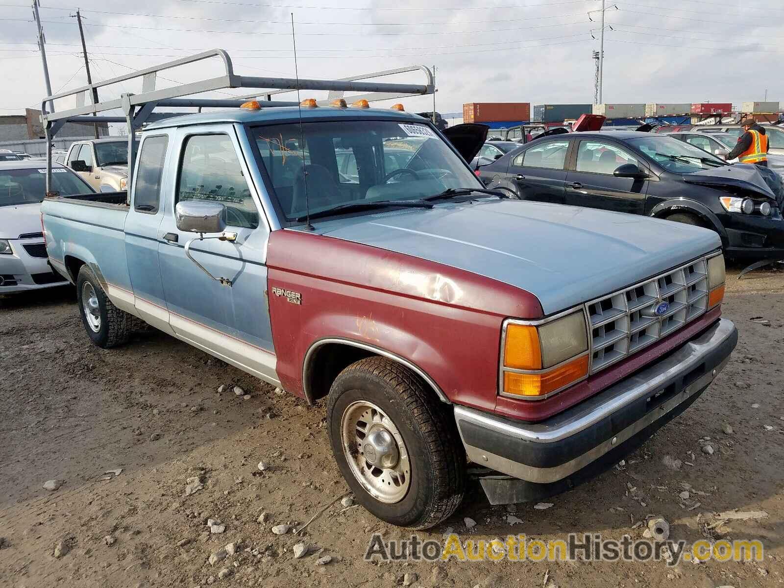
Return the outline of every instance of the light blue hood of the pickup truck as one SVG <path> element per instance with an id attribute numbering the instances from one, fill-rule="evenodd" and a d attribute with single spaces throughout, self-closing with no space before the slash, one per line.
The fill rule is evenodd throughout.
<path id="1" fill-rule="evenodd" d="M 721 245 L 712 230 L 576 206 L 450 202 L 316 223 L 330 237 L 416 256 L 532 292 L 546 314 L 651 278 Z"/>

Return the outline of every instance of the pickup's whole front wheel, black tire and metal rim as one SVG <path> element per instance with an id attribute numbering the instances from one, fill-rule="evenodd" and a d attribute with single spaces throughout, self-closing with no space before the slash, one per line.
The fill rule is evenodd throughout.
<path id="1" fill-rule="evenodd" d="M 466 455 L 456 423 L 405 366 L 374 356 L 345 368 L 329 390 L 327 425 L 354 497 L 379 519 L 430 528 L 463 500 Z M 378 465 L 370 466 L 371 456 Z"/>

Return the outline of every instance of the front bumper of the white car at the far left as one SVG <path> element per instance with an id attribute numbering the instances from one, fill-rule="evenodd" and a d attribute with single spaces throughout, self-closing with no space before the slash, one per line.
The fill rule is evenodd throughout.
<path id="1" fill-rule="evenodd" d="M 25 292 L 67 284 L 68 282 L 52 271 L 43 255 L 43 241 L 37 239 L 10 240 L 11 255 L 0 255 L 0 294 Z M 25 247 L 27 245 L 27 248 Z"/>

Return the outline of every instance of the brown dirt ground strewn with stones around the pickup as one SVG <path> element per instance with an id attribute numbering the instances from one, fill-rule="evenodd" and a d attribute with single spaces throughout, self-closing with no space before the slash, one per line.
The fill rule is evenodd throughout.
<path id="1" fill-rule="evenodd" d="M 339 502 L 310 524 L 309 555 L 295 559 L 291 548 L 302 539 L 271 527 L 301 524 L 347 491 L 328 450 L 324 405 L 275 394 L 158 332 L 116 350 L 93 347 L 74 293 L 60 289 L 0 299 L 0 586 L 394 586 L 405 573 L 418 575 L 413 586 L 782 584 L 784 274 L 736 274 L 728 275 L 724 316 L 738 325 L 740 343 L 728 367 L 626 466 L 551 499 L 547 510 L 517 506 L 522 522 L 514 526 L 474 483 L 449 521 L 420 535 L 441 540 L 453 528 L 463 539 L 638 539 L 643 528 L 632 521 L 657 514 L 670 521 L 671 538 L 691 543 L 713 513 L 764 510 L 767 518 L 717 529 L 762 539 L 764 562 L 368 563 L 372 532 L 407 533 Z M 750 321 L 760 316 L 769 324 Z M 230 387 L 219 394 L 221 384 L 250 397 Z M 701 451 L 702 437 L 712 456 Z M 666 455 L 686 463 L 675 471 L 662 463 Z M 261 460 L 267 471 L 258 470 Z M 188 478 L 199 476 L 204 488 L 185 496 Z M 48 491 L 51 479 L 63 485 Z M 687 500 L 678 496 L 684 484 Z M 266 523 L 257 522 L 262 512 Z M 464 517 L 477 526 L 466 530 Z M 225 531 L 209 533 L 208 518 Z M 210 565 L 209 555 L 231 542 L 238 553 Z M 317 565 L 324 555 L 332 561 Z M 223 568 L 230 575 L 220 579 Z"/>

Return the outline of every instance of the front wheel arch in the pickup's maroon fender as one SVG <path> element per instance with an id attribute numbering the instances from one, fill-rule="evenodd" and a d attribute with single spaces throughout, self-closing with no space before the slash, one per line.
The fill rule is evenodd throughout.
<path id="1" fill-rule="evenodd" d="M 332 382 L 344 368 L 353 364 L 354 361 L 373 355 L 404 365 L 422 378 L 425 385 L 430 387 L 442 402 L 452 404 L 435 380 L 412 361 L 401 358 L 399 355 L 381 347 L 340 337 L 318 339 L 318 341 L 310 345 L 305 354 L 302 368 L 302 385 L 303 394 L 308 404 L 312 405 L 318 398 L 325 397 L 329 393 L 329 387 L 332 385 Z"/>

